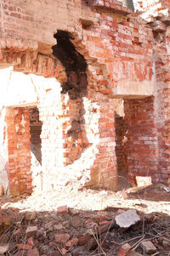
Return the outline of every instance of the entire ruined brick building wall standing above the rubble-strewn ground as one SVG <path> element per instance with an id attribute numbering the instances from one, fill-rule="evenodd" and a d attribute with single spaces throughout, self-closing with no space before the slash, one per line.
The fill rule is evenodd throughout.
<path id="1" fill-rule="evenodd" d="M 169 8 L 167 0 L 1 1 L 5 193 L 77 179 L 116 191 L 120 176 L 170 184 Z"/>

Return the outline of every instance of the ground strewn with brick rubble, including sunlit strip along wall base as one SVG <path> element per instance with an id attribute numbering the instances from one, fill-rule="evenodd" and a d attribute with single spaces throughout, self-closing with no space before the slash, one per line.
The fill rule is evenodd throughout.
<path id="1" fill-rule="evenodd" d="M 153 187 L 153 190 L 154 195 L 156 191 L 159 191 L 159 196 L 165 193 L 163 189 L 160 191 L 156 187 Z M 54 195 L 52 192 L 49 193 L 50 200 L 48 196 L 46 198 L 44 196 L 3 198 L 3 223 L 0 229 L 1 256 L 169 255 L 170 210 L 168 213 L 161 213 L 160 209 L 168 206 L 168 197 L 165 202 L 155 200 L 155 208 L 158 211 L 156 213 L 150 210 L 153 198 L 148 204 L 146 197 L 145 202 L 140 198 L 133 200 L 132 191 L 127 200 L 119 199 L 119 204 L 116 202 L 114 193 L 110 191 L 101 193 L 88 190 L 88 194 L 86 190 L 75 191 L 72 207 L 71 197 L 69 197 L 72 190 L 69 194 L 65 194 L 65 191 L 62 194 L 61 191 L 60 196 L 63 198 L 68 196 L 70 200 L 68 204 L 65 203 L 66 200 L 61 200 L 57 191 L 54 191 Z M 81 196 L 78 193 L 81 193 Z M 94 204 L 98 198 L 97 194 L 108 206 L 99 210 L 88 209 L 89 196 Z M 139 195 L 144 196 L 141 191 Z M 56 199 L 60 205 L 59 203 L 55 205 Z M 76 208 L 75 204 L 82 206 L 82 199 L 83 208 Z M 32 205 L 28 204 L 30 200 L 34 201 Z M 39 209 L 35 210 L 36 200 L 37 206 L 39 203 L 41 209 L 38 206 Z M 110 200 L 112 205 L 109 204 Z M 52 205 L 55 210 L 52 209 Z M 168 207 L 166 210 L 168 211 Z"/>

